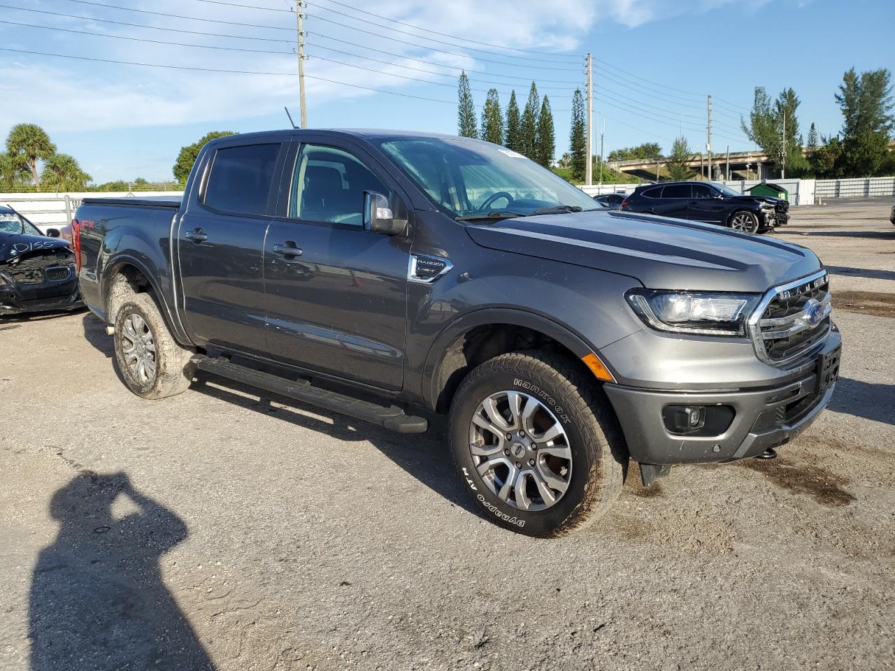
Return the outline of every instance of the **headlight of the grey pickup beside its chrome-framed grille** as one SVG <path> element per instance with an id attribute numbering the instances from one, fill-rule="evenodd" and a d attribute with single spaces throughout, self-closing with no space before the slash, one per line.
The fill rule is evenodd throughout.
<path id="1" fill-rule="evenodd" d="M 625 298 L 640 319 L 660 331 L 746 335 L 746 319 L 761 295 L 632 289 Z"/>

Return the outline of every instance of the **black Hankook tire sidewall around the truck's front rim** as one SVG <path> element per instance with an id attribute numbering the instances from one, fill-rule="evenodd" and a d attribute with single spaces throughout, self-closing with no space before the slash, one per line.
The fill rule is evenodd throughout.
<path id="1" fill-rule="evenodd" d="M 585 492 L 596 465 L 592 452 L 585 447 L 587 438 L 584 436 L 583 422 L 578 416 L 580 410 L 577 407 L 581 399 L 550 384 L 550 380 L 537 380 L 536 376 L 523 371 L 494 371 L 490 375 L 472 379 L 470 383 L 457 392 L 450 437 L 457 471 L 466 490 L 482 506 L 491 521 L 533 536 L 553 535 L 584 504 Z M 484 483 L 473 463 L 473 454 L 469 450 L 469 429 L 473 412 L 485 398 L 501 391 L 518 391 L 537 398 L 550 409 L 566 430 L 572 452 L 572 477 L 563 497 L 546 510 L 526 512 L 500 500 Z"/>

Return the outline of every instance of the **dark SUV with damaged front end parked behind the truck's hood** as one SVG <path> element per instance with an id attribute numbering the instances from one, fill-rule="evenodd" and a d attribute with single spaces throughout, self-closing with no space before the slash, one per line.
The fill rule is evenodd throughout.
<path id="1" fill-rule="evenodd" d="M 786 200 L 737 193 L 714 182 L 667 182 L 638 186 L 622 209 L 764 233 L 789 220 Z"/>

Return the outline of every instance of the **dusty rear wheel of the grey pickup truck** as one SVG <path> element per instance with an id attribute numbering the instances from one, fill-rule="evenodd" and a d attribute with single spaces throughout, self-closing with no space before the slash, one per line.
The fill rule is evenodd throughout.
<path id="1" fill-rule="evenodd" d="M 142 398 L 180 394 L 192 382 L 192 350 L 177 344 L 149 293 L 123 296 L 115 316 L 115 361 Z"/>

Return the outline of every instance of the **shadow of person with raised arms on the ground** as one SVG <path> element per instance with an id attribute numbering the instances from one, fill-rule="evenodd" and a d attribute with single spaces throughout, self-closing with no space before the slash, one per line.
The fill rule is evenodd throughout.
<path id="1" fill-rule="evenodd" d="M 116 517 L 119 502 L 130 512 Z M 61 526 L 31 581 L 31 671 L 214 669 L 159 571 L 183 520 L 125 473 L 91 471 L 55 492 L 50 514 Z"/>

